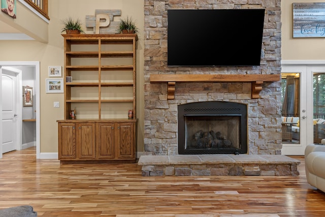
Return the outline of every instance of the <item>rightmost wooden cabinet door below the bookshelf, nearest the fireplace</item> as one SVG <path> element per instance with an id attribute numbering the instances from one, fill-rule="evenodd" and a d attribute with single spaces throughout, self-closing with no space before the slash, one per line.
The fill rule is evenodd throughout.
<path id="1" fill-rule="evenodd" d="M 116 151 L 118 159 L 135 158 L 134 123 L 116 123 Z"/>

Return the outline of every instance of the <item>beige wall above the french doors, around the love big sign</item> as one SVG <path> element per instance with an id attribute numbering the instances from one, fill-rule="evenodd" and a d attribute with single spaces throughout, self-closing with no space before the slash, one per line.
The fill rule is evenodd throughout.
<path id="1" fill-rule="evenodd" d="M 324 60 L 325 38 L 293 38 L 293 3 L 316 3 L 321 0 L 282 0 L 282 60 Z"/>

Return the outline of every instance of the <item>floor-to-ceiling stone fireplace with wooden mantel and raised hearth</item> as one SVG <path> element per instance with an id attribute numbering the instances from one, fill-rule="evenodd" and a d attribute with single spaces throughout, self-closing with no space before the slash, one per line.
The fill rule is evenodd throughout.
<path id="1" fill-rule="evenodd" d="M 139 159 L 142 175 L 298 175 L 300 162 L 281 155 L 281 1 L 144 3 L 145 129 L 144 154 Z M 169 9 L 253 8 L 266 9 L 260 66 L 167 66 Z M 192 37 L 190 31 L 188 37 Z M 215 52 L 222 55 L 222 50 Z M 245 105 L 247 119 L 242 119 L 244 113 L 232 111 L 230 115 L 225 109 L 218 114 L 213 111 L 212 115 L 181 114 L 185 105 L 210 102 L 222 102 L 227 105 L 224 107 L 232 103 Z M 191 126 L 196 128 L 190 130 Z M 222 126 L 222 130 L 217 126 Z M 186 131 L 190 134 L 182 135 Z M 183 143 L 196 138 L 196 143 Z M 230 153 L 218 153 L 220 150 L 213 150 L 215 147 Z M 182 149 L 187 152 L 182 153 Z"/>

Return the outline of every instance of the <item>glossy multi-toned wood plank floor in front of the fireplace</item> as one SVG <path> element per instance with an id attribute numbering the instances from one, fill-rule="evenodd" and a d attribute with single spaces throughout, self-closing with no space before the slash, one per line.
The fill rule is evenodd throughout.
<path id="1" fill-rule="evenodd" d="M 151 176 L 138 164 L 36 160 L 35 148 L 0 159 L 0 209 L 38 216 L 324 216 L 325 193 L 299 176 Z"/>

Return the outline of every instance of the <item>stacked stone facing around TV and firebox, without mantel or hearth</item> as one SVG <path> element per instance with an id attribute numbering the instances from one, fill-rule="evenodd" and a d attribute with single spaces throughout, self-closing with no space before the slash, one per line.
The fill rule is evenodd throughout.
<path id="1" fill-rule="evenodd" d="M 144 3 L 144 154 L 147 156 L 177 156 L 177 106 L 202 101 L 229 101 L 247 104 L 248 154 L 281 154 L 280 82 L 265 82 L 259 99 L 251 99 L 250 83 L 176 83 L 175 99 L 167 100 L 167 84 L 150 83 L 149 79 L 151 74 L 280 74 L 281 1 L 150 0 Z M 167 66 L 168 9 L 248 8 L 266 9 L 261 66 L 194 68 Z M 188 37 L 191 37 L 190 33 Z M 193 38 L 193 40 L 195 39 Z M 216 52 L 220 52 L 222 55 L 222 51 Z M 247 55 L 249 55 L 249 51 L 247 51 Z"/>

